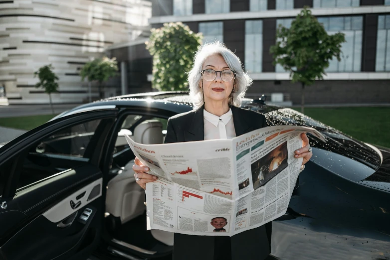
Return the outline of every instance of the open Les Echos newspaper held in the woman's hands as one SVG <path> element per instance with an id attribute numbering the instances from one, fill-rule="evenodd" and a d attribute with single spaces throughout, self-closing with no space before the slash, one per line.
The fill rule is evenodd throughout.
<path id="1" fill-rule="evenodd" d="M 233 236 L 282 216 L 303 158 L 302 132 L 273 126 L 233 139 L 140 144 L 134 154 L 159 178 L 146 185 L 148 229 L 189 235 Z"/>

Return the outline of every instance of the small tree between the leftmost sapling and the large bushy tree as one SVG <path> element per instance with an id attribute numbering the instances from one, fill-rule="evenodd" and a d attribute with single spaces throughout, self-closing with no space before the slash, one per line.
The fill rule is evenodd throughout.
<path id="1" fill-rule="evenodd" d="M 99 97 L 103 98 L 103 82 L 111 77 L 118 75 L 118 62 L 116 58 L 109 59 L 107 57 L 94 59 L 85 63 L 80 71 L 81 80 L 88 79 L 89 84 L 89 102 L 91 102 L 91 83 L 97 81 L 99 83 Z M 122 72 L 125 73 L 125 72 Z"/>

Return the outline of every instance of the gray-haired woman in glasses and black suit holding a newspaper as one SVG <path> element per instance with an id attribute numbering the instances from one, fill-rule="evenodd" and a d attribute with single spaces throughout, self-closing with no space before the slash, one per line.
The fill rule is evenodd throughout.
<path id="1" fill-rule="evenodd" d="M 189 73 L 190 96 L 195 110 L 169 119 L 166 143 L 201 141 L 235 136 L 266 127 L 264 115 L 239 108 L 252 80 L 244 74 L 239 58 L 223 44 L 203 45 L 195 54 Z M 304 147 L 295 151 L 303 157 L 301 169 L 312 156 L 309 139 L 302 134 Z M 157 178 L 136 158 L 134 177 L 145 189 Z M 269 255 L 265 225 L 232 237 L 175 234 L 174 260 L 261 260 Z"/>

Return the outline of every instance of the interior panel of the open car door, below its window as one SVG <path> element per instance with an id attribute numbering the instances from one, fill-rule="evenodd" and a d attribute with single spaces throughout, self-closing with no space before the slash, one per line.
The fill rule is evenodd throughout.
<path id="1" fill-rule="evenodd" d="M 3 234 L 0 252 L 7 256 L 6 259 L 11 260 L 52 259 L 56 254 L 66 253 L 70 256 L 74 254 L 76 249 L 68 252 L 69 249 L 80 244 L 86 234 L 96 233 L 101 225 L 100 216 L 95 214 L 96 211 L 100 215 L 103 213 L 103 202 L 98 200 L 102 194 L 101 176 L 98 167 L 82 166 L 60 172 L 56 176 L 16 192 L 13 200 L 8 203 L 9 211 L 4 212 L 7 214 L 0 215 L 0 223 L 7 223 L 8 227 L 13 227 Z M 97 185 L 99 186 L 98 195 L 87 201 L 92 189 Z M 86 194 L 76 200 L 76 197 L 83 192 Z M 59 198 L 63 197 L 65 199 L 58 202 Z M 81 202 L 81 205 L 68 211 L 71 199 L 75 203 Z M 95 201 L 96 203 L 94 203 Z M 69 207 L 66 207 L 67 205 Z M 13 208 L 18 208 L 21 211 L 13 210 Z M 93 208 L 94 214 L 88 218 L 87 223 L 82 225 L 77 220 L 85 208 Z M 57 227 L 58 223 L 76 211 L 78 212 L 76 221 L 70 227 L 65 229 Z M 32 239 L 34 243 L 31 243 Z M 28 247 L 24 248 L 23 246 L 23 250 L 15 248 L 26 244 Z M 28 256 L 25 255 L 27 253 Z"/>

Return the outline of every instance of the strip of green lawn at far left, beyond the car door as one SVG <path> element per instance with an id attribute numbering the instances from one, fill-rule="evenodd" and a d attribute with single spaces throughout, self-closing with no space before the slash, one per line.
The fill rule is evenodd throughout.
<path id="1" fill-rule="evenodd" d="M 0 127 L 16 128 L 22 130 L 31 130 L 43 125 L 55 115 L 28 116 L 16 118 L 0 118 Z"/>

